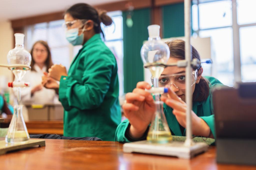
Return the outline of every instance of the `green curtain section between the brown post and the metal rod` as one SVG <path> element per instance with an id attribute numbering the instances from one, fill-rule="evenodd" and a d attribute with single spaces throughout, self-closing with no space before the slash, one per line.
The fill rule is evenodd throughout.
<path id="1" fill-rule="evenodd" d="M 166 5 L 163 11 L 163 38 L 184 36 L 184 3 Z"/>

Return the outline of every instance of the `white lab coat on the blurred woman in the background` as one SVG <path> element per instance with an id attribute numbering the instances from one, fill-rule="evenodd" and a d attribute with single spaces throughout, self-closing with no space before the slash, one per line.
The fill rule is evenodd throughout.
<path id="1" fill-rule="evenodd" d="M 58 95 L 53 89 L 47 89 L 43 87 L 40 91 L 36 91 L 33 96 L 31 96 L 31 89 L 42 82 L 42 76 L 46 72 L 46 66 L 40 69 L 37 64 L 34 65 L 35 71 L 27 71 L 24 75 L 22 81 L 30 83 L 30 87 L 21 89 L 21 102 L 23 104 L 60 104 L 58 100 Z M 17 96 L 17 88 L 13 88 L 15 96 Z M 24 120 L 28 120 L 27 109 L 23 108 Z"/>

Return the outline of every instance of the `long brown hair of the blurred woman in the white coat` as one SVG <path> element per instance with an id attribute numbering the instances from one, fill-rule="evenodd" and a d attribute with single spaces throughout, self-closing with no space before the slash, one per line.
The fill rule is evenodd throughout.
<path id="1" fill-rule="evenodd" d="M 35 42 L 34 45 L 32 46 L 31 51 L 30 51 L 30 54 L 31 54 L 31 57 L 32 57 L 31 64 L 30 64 L 31 71 L 35 71 L 34 65 L 35 65 L 36 62 L 33 58 L 33 50 L 34 50 L 34 46 L 37 43 L 42 44 L 46 48 L 47 58 L 45 60 L 45 65 L 46 65 L 46 71 L 48 71 L 48 69 L 51 68 L 51 66 L 53 65 L 52 60 L 51 60 L 51 51 L 50 51 L 50 47 L 48 46 L 47 42 L 42 41 L 42 40 L 39 40 L 39 41 Z"/>

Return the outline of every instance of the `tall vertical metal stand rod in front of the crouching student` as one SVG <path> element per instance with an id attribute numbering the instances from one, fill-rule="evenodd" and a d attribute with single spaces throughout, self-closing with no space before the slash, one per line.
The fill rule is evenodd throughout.
<path id="1" fill-rule="evenodd" d="M 187 63 L 192 61 L 192 47 L 190 45 L 190 34 L 191 34 L 191 0 L 184 0 L 184 12 L 185 12 L 185 60 Z M 193 143 L 192 140 L 192 129 L 191 129 L 191 110 L 192 110 L 192 87 L 190 86 L 191 82 L 191 64 L 186 66 L 186 103 L 187 103 L 187 112 L 186 112 L 186 141 L 185 146 L 191 146 Z"/>

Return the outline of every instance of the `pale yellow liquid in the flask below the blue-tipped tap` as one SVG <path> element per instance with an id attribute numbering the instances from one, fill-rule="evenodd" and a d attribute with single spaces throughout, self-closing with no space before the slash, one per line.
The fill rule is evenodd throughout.
<path id="1" fill-rule="evenodd" d="M 173 140 L 170 132 L 159 131 L 159 132 L 148 132 L 147 141 L 152 143 L 168 143 Z"/>

